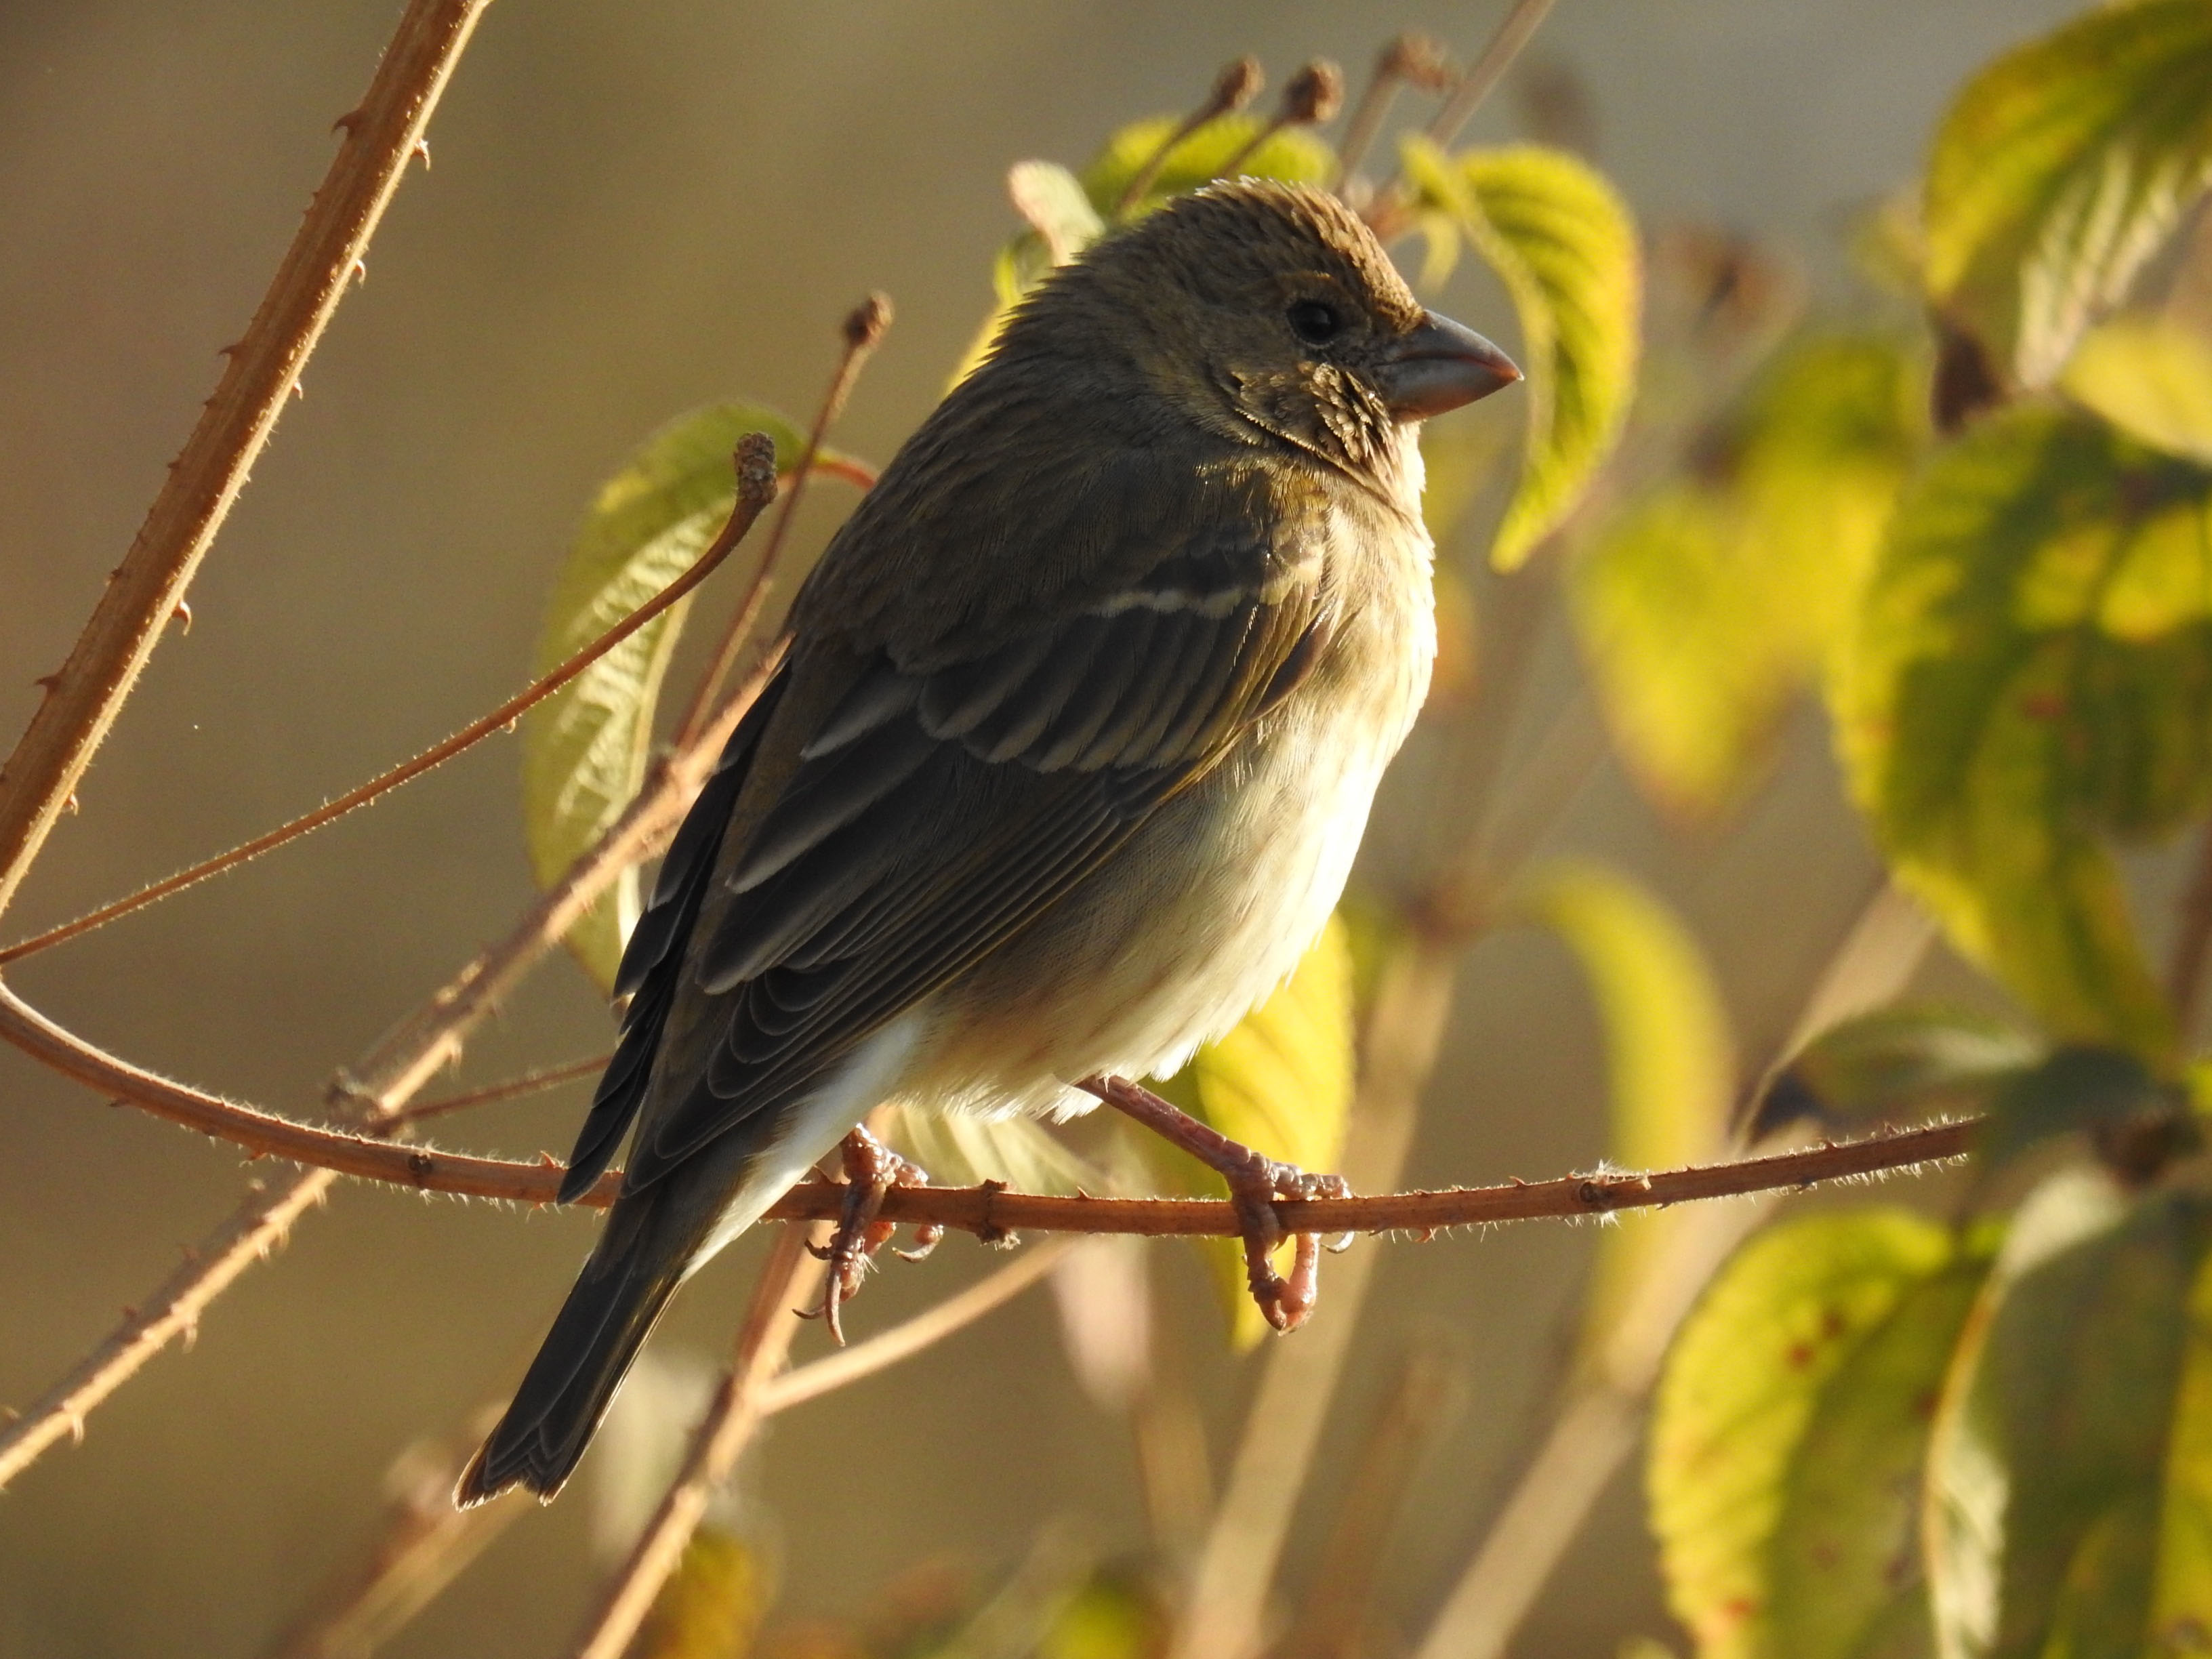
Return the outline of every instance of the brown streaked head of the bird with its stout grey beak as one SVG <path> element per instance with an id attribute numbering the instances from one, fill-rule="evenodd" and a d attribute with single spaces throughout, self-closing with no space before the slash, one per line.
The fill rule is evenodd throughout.
<path id="1" fill-rule="evenodd" d="M 1413 299 L 1358 215 L 1305 186 L 1208 186 L 1066 274 L 1183 411 L 1380 482 L 1416 422 L 1520 378 L 1504 352 Z"/>

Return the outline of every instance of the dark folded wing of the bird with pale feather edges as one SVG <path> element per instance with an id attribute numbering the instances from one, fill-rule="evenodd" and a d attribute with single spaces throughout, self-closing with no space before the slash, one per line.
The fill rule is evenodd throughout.
<path id="1" fill-rule="evenodd" d="M 723 854 L 723 902 L 697 940 L 648 911 L 637 938 L 655 925 L 653 960 L 624 967 L 639 1002 L 712 1002 L 712 1046 L 690 1060 L 697 1075 L 655 1088 L 628 1188 L 779 1113 L 1040 916 L 1274 708 L 1329 628 L 1321 531 L 1221 511 L 1135 580 L 956 661 L 916 664 L 898 641 L 858 664 L 841 646 L 799 650 L 787 701 L 825 712 L 772 803 L 748 814 L 743 849 Z M 810 672 L 843 695 L 807 699 Z M 708 841 L 679 845 L 655 894 L 690 909 L 686 931 Z"/>

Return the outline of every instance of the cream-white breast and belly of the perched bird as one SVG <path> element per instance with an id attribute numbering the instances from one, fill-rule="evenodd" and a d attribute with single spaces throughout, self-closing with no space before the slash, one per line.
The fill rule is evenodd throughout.
<path id="1" fill-rule="evenodd" d="M 1064 1091 L 1077 1077 L 1166 1075 L 1298 964 L 1436 655 L 1427 538 L 1338 546 L 1336 626 L 1307 679 L 1108 869 L 940 998 L 940 1104 L 1064 1110 L 1086 1104 Z"/>

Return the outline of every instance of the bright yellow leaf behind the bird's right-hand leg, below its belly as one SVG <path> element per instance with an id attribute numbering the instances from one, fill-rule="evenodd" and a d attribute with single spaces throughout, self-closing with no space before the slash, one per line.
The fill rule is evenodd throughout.
<path id="1" fill-rule="evenodd" d="M 1352 1115 L 1352 991 L 1349 929 L 1332 916 L 1283 987 L 1225 1037 L 1199 1048 L 1159 1093 L 1254 1152 L 1312 1172 L 1334 1170 Z M 1228 1192 L 1194 1159 L 1152 1135 L 1144 1141 L 1159 1148 L 1164 1172 L 1183 1190 Z M 1221 1285 L 1230 1340 L 1248 1349 L 1267 1334 L 1267 1321 L 1245 1290 L 1243 1248 L 1234 1239 L 1199 1243 Z"/>

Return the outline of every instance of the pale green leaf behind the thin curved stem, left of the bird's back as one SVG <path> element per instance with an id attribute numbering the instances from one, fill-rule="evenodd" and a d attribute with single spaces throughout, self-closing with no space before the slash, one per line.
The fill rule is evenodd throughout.
<path id="1" fill-rule="evenodd" d="M 790 420 L 723 403 L 661 427 L 599 489 L 553 586 L 535 672 L 573 657 L 706 553 L 737 500 L 730 451 L 748 431 L 774 438 L 779 469 L 799 465 L 805 434 Z M 542 887 L 606 834 L 644 783 L 653 706 L 688 611 L 690 599 L 677 602 L 522 717 L 522 832 Z M 624 872 L 568 929 L 568 949 L 602 987 L 615 982 L 637 909 L 637 872 Z"/>

